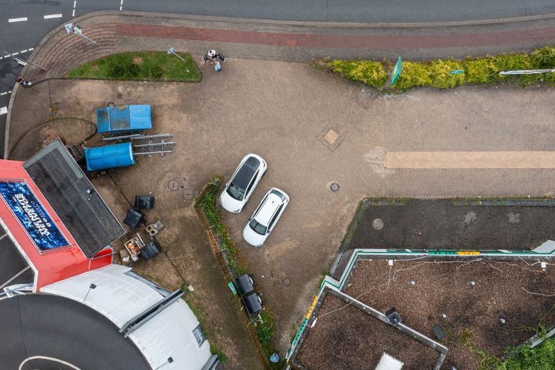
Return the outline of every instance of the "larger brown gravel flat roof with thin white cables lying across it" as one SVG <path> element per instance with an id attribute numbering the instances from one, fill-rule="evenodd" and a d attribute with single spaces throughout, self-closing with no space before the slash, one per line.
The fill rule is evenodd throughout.
<path id="1" fill-rule="evenodd" d="M 439 324 L 446 333 L 439 342 L 450 350 L 445 369 L 477 369 L 479 357 L 468 344 L 500 358 L 538 325 L 555 323 L 553 266 L 481 259 L 389 266 L 368 260 L 359 262 L 345 292 L 381 312 L 397 308 L 407 326 L 428 337 L 435 338 L 432 327 Z"/>

